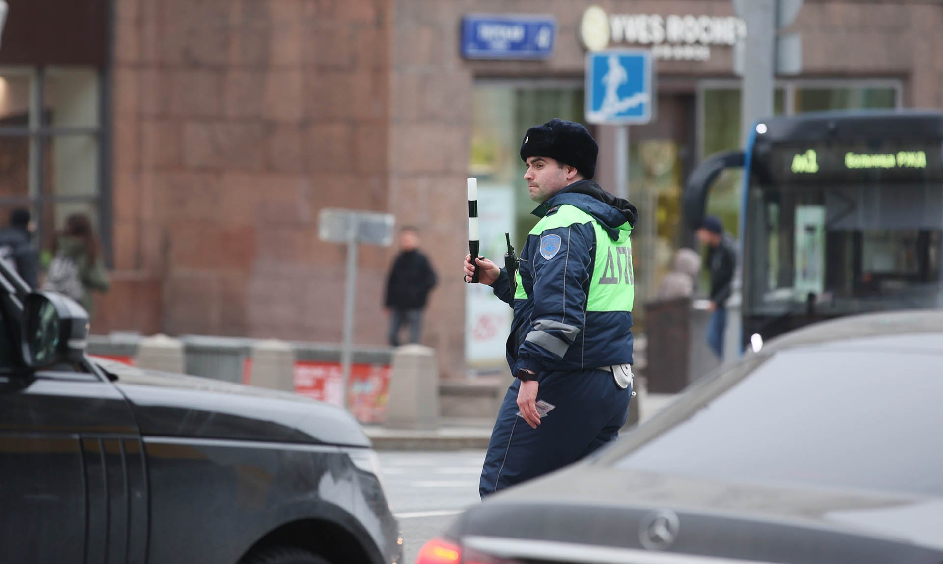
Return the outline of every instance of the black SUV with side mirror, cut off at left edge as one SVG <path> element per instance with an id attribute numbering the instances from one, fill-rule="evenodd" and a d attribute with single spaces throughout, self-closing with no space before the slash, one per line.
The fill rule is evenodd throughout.
<path id="1" fill-rule="evenodd" d="M 401 559 L 347 411 L 92 360 L 88 330 L 0 265 L 0 562 Z"/>

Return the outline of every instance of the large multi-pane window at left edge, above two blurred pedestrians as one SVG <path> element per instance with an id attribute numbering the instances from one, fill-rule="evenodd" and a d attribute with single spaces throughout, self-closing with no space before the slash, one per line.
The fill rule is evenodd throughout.
<path id="1" fill-rule="evenodd" d="M 0 224 L 28 208 L 52 249 L 75 212 L 101 230 L 101 79 L 93 68 L 0 68 Z"/>

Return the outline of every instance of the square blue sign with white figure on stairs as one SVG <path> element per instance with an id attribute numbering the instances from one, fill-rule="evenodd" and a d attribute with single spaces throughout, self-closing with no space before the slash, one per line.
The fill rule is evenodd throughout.
<path id="1" fill-rule="evenodd" d="M 652 52 L 630 49 L 587 55 L 589 123 L 648 123 L 654 116 Z"/>

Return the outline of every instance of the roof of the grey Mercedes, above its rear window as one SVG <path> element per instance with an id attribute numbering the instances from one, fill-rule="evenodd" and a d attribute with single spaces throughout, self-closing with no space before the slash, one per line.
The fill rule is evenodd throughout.
<path id="1" fill-rule="evenodd" d="M 917 347 L 943 352 L 943 310 L 847 315 L 771 339 L 763 345 L 763 352 L 822 345 Z"/>

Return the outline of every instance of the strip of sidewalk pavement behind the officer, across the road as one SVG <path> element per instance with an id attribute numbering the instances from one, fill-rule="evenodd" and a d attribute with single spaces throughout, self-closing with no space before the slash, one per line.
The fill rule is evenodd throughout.
<path id="1" fill-rule="evenodd" d="M 676 394 L 647 394 L 641 404 L 645 421 L 667 406 Z M 402 429 L 364 425 L 376 450 L 462 450 L 488 448 L 493 418 L 442 418 L 438 428 Z"/>

